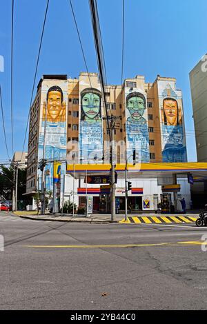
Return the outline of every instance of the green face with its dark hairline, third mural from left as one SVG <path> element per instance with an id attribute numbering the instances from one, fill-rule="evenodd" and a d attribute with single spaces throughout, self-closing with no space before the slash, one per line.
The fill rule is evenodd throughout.
<path id="1" fill-rule="evenodd" d="M 146 100 L 143 94 L 139 94 L 139 92 L 128 94 L 126 97 L 126 107 L 132 119 L 139 121 L 143 117 L 144 110 L 146 109 Z"/>

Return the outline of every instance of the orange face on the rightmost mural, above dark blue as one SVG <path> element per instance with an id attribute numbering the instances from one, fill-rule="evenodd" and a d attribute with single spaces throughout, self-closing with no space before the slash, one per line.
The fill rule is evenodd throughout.
<path id="1" fill-rule="evenodd" d="M 165 125 L 178 125 L 178 106 L 177 101 L 172 98 L 164 99 L 164 123 Z"/>

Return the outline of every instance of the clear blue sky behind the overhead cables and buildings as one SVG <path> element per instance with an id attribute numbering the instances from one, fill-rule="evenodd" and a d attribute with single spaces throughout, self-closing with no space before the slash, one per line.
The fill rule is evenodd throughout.
<path id="1" fill-rule="evenodd" d="M 10 0 L 0 0 L 0 72 L 8 146 L 10 126 Z M 122 0 L 98 0 L 108 83 L 121 83 Z M 14 0 L 14 150 L 21 150 L 34 79 L 46 0 Z M 97 72 L 88 0 L 72 0 L 86 52 L 88 70 Z M 143 74 L 176 77 L 183 90 L 188 160 L 196 161 L 193 112 L 188 73 L 206 54 L 206 0 L 126 0 L 124 78 Z M 37 73 L 78 77 L 86 71 L 70 11 L 69 0 L 50 0 Z M 0 159 L 7 158 L 0 124 Z M 27 149 L 27 145 L 26 145 Z"/>

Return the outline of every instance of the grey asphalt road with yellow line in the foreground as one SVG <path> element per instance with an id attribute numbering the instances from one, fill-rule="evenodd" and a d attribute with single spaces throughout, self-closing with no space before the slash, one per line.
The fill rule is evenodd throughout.
<path id="1" fill-rule="evenodd" d="M 0 213 L 1 310 L 206 310 L 207 228 Z M 90 246 L 92 245 L 92 246 Z"/>

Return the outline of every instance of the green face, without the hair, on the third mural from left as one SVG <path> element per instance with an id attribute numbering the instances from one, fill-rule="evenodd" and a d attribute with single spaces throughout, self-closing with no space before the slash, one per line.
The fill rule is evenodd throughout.
<path id="1" fill-rule="evenodd" d="M 144 99 L 138 96 L 128 99 L 127 108 L 130 115 L 135 121 L 139 121 L 144 114 L 145 102 Z"/>

